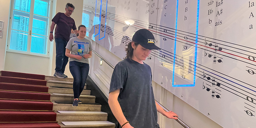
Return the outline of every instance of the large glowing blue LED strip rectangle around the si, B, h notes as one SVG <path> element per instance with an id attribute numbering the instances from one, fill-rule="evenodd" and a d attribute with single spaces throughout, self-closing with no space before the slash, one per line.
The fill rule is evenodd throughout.
<path id="1" fill-rule="evenodd" d="M 176 59 L 176 37 L 177 37 L 177 20 L 178 20 L 178 4 L 177 0 L 177 9 L 176 9 L 176 26 L 175 26 L 175 44 L 174 44 L 174 60 L 173 60 L 173 74 L 172 74 L 172 86 L 195 86 L 195 74 L 196 74 L 196 58 L 197 58 L 197 37 L 198 37 L 198 17 L 199 17 L 199 0 L 197 1 L 197 16 L 196 16 L 196 39 L 195 39 L 195 57 L 194 57 L 194 81 L 190 85 L 174 85 L 174 76 L 175 76 L 175 59 Z"/>

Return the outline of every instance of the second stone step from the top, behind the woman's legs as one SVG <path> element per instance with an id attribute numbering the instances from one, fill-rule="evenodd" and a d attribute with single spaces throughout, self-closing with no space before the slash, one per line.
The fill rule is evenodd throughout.
<path id="1" fill-rule="evenodd" d="M 46 86 L 48 86 L 48 87 L 54 86 L 54 87 L 73 88 L 73 81 L 69 82 L 69 81 L 53 81 L 53 80 L 50 80 L 50 81 L 47 81 Z M 86 89 L 86 84 L 84 86 L 84 89 Z"/>

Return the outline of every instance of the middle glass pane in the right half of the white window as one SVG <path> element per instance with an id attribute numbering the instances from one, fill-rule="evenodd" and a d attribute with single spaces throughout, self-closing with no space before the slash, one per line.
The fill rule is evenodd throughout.
<path id="1" fill-rule="evenodd" d="M 32 33 L 46 35 L 46 22 L 33 19 Z"/>

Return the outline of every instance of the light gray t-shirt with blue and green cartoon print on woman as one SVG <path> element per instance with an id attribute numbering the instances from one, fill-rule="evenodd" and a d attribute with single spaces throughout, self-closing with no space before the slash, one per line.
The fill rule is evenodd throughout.
<path id="1" fill-rule="evenodd" d="M 87 40 L 86 38 L 84 38 L 82 40 L 78 39 L 77 37 L 71 38 L 67 42 L 66 48 L 71 51 L 71 54 L 80 55 L 80 56 L 88 54 L 89 51 L 92 51 L 91 42 L 89 40 Z M 89 64 L 88 58 L 86 59 L 84 57 L 82 57 L 81 60 L 78 60 L 76 58 L 70 58 L 69 62 L 71 62 L 71 61 L 77 61 L 77 62 Z"/>

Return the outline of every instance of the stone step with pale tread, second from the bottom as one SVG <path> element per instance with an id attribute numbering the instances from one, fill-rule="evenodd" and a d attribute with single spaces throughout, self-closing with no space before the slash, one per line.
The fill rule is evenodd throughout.
<path id="1" fill-rule="evenodd" d="M 101 111 L 60 111 L 57 113 L 57 122 L 62 121 L 107 121 L 107 113 Z M 80 112 L 80 113 L 79 113 Z"/>

